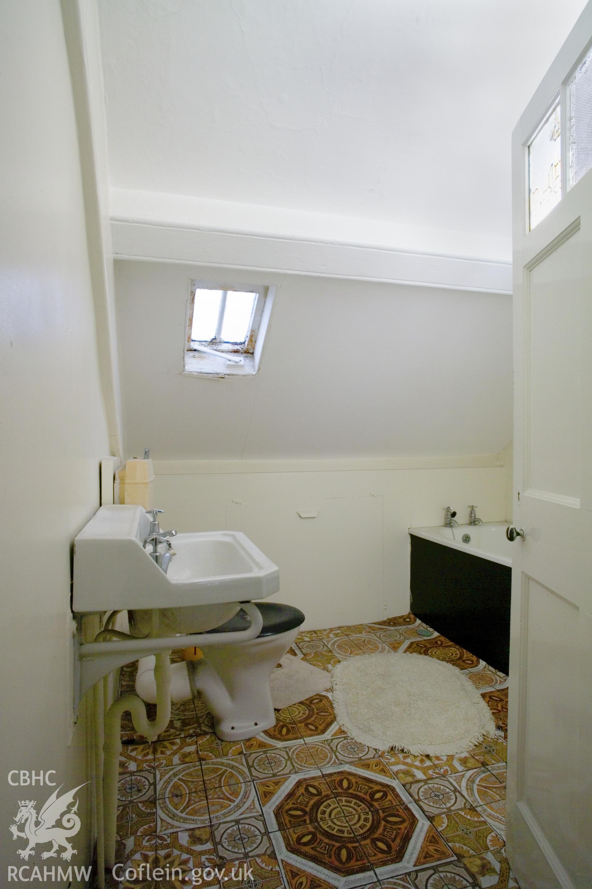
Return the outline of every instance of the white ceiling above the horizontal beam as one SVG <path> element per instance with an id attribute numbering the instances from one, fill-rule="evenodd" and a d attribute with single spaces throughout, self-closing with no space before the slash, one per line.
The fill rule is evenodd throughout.
<path id="1" fill-rule="evenodd" d="M 454 230 L 461 255 L 478 231 L 509 260 L 510 133 L 583 6 L 99 0 L 112 185 Z"/>

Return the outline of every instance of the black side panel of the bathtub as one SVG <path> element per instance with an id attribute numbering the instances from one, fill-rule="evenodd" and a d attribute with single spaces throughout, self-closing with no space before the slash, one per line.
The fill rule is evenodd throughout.
<path id="1" fill-rule="evenodd" d="M 442 636 L 508 673 L 512 569 L 410 536 L 412 612 Z"/>

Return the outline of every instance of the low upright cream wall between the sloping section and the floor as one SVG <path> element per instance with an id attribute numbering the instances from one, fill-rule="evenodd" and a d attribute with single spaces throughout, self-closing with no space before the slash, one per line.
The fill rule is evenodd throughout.
<path id="1" fill-rule="evenodd" d="M 470 503 L 485 522 L 505 517 L 506 470 L 495 457 L 386 468 L 397 465 L 158 461 L 154 504 L 178 531 L 247 533 L 280 567 L 271 601 L 301 608 L 307 628 L 376 621 L 409 610 L 407 528 L 441 524 L 446 506 L 466 520 Z"/>

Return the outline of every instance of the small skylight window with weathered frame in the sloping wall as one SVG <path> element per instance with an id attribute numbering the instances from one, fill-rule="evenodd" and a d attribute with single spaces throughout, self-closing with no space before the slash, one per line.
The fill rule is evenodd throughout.
<path id="1" fill-rule="evenodd" d="M 193 282 L 185 371 L 216 376 L 257 372 L 270 308 L 266 287 Z"/>

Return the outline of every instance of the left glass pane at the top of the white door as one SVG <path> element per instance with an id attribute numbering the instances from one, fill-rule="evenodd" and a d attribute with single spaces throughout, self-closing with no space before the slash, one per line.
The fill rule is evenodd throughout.
<path id="1" fill-rule="evenodd" d="M 551 111 L 528 147 L 530 228 L 561 200 L 561 112 Z"/>

